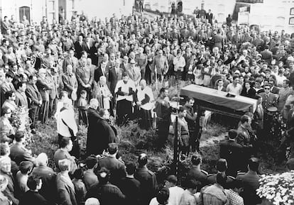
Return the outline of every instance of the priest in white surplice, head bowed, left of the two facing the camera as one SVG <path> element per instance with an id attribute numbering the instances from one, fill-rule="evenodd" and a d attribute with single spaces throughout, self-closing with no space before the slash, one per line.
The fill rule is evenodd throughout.
<path id="1" fill-rule="evenodd" d="M 114 89 L 116 94 L 116 115 L 117 124 L 121 126 L 132 117 L 132 103 L 134 101 L 134 91 L 136 90 L 135 83 L 129 79 L 129 74 L 124 72 L 122 79 L 117 82 Z"/>

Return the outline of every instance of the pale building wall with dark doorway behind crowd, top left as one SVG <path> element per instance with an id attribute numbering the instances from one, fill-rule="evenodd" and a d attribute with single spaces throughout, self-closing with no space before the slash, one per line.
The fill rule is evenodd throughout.
<path id="1" fill-rule="evenodd" d="M 72 13 L 77 11 L 78 14 L 85 13 L 89 19 L 96 16 L 104 20 L 113 13 L 129 15 L 133 6 L 134 0 L 0 0 L 0 16 L 11 18 L 13 15 L 17 21 L 26 16 L 31 23 L 40 23 L 43 16 L 49 22 L 58 21 L 59 16 L 70 20 Z"/>

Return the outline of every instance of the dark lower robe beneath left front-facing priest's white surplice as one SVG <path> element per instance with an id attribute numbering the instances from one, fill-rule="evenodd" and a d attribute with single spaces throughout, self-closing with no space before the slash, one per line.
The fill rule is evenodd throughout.
<path id="1" fill-rule="evenodd" d="M 121 126 L 132 117 L 131 101 L 126 99 L 117 101 L 116 104 L 117 125 Z"/>

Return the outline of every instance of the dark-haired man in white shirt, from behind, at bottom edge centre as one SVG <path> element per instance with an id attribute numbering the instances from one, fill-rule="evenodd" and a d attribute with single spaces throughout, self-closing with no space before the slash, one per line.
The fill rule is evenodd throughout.
<path id="1" fill-rule="evenodd" d="M 175 175 L 170 175 L 165 180 L 165 187 L 170 190 L 170 196 L 168 198 L 169 205 L 178 205 L 180 204 L 180 198 L 184 193 L 184 189 L 177 186 L 178 179 Z"/>

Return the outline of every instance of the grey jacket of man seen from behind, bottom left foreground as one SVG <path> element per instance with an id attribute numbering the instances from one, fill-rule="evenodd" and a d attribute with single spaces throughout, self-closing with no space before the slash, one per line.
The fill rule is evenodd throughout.
<path id="1" fill-rule="evenodd" d="M 56 177 L 56 186 L 58 190 L 59 204 L 77 205 L 77 200 L 75 199 L 75 187 L 73 184 L 65 181 L 60 173 Z"/>

